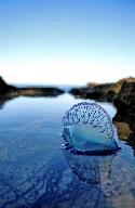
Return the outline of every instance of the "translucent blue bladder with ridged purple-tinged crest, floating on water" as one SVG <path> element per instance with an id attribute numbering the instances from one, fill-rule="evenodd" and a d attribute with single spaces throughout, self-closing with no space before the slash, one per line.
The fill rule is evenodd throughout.
<path id="1" fill-rule="evenodd" d="M 95 102 L 73 105 L 63 117 L 63 138 L 79 152 L 117 151 L 110 116 Z"/>

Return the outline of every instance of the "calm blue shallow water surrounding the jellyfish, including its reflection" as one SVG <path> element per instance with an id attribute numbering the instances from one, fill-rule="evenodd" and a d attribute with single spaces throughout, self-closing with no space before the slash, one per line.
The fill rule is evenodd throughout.
<path id="1" fill-rule="evenodd" d="M 58 98 L 17 98 L 0 109 L 0 208 L 135 207 L 134 151 L 75 155 L 63 148 L 62 117 L 75 103 Z M 116 108 L 100 103 L 113 117 Z"/>

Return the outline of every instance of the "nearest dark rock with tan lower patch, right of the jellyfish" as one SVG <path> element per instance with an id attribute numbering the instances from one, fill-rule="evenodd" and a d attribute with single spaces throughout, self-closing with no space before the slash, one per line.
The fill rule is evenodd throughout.
<path id="1" fill-rule="evenodd" d="M 135 82 L 124 82 L 113 104 L 118 109 L 113 121 L 120 139 L 135 144 Z"/>

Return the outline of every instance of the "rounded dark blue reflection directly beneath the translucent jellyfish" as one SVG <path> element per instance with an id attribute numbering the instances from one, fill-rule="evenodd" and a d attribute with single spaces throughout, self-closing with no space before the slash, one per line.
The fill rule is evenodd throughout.
<path id="1" fill-rule="evenodd" d="M 78 155 L 70 150 L 64 150 L 64 156 L 78 178 L 89 184 L 100 184 L 109 178 L 111 164 L 116 154 L 102 155 Z"/>

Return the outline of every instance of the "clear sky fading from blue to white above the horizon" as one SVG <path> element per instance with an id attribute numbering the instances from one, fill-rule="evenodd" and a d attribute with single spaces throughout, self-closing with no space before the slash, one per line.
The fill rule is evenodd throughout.
<path id="1" fill-rule="evenodd" d="M 0 76 L 58 84 L 135 77 L 135 1 L 0 0 Z"/>

